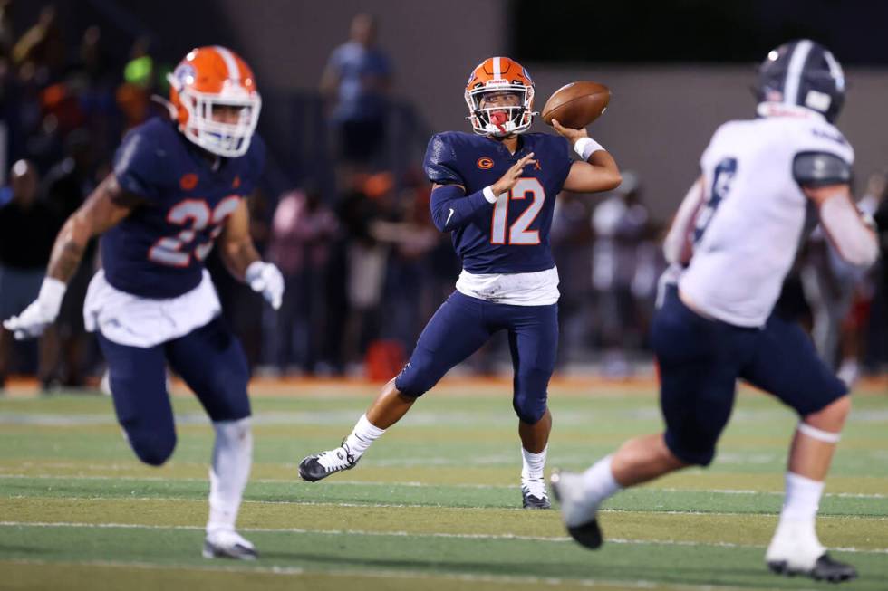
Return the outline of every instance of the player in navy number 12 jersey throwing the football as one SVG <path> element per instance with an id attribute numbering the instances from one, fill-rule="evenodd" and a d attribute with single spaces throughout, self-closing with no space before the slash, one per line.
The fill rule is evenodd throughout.
<path id="1" fill-rule="evenodd" d="M 431 214 L 462 257 L 456 291 L 422 331 L 410 362 L 333 450 L 299 464 L 306 481 L 352 468 L 362 453 L 460 361 L 507 330 L 515 370 L 523 506 L 546 509 L 543 469 L 552 418 L 546 406 L 558 340 L 558 272 L 549 248 L 555 196 L 620 184 L 613 158 L 584 129 L 563 137 L 525 133 L 533 121 L 534 84 L 505 57 L 480 63 L 465 92 L 474 135 L 440 133 L 424 167 L 433 183 Z M 565 141 L 565 138 L 567 141 Z M 581 161 L 570 157 L 571 146 Z"/>

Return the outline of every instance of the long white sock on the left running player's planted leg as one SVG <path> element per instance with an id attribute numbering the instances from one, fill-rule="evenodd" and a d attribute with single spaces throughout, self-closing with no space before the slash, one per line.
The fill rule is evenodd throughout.
<path id="1" fill-rule="evenodd" d="M 237 510 L 253 462 L 253 434 L 249 417 L 213 423 L 216 444 L 209 469 L 209 520 L 207 532 L 235 529 Z"/>

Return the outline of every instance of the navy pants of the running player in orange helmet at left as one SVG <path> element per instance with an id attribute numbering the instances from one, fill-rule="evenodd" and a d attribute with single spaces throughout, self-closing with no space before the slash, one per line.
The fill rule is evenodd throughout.
<path id="1" fill-rule="evenodd" d="M 249 368 L 240 343 L 221 317 L 151 348 L 128 347 L 98 333 L 108 361 L 117 420 L 142 462 L 159 466 L 176 447 L 166 364 L 185 380 L 215 421 L 250 415 Z"/>

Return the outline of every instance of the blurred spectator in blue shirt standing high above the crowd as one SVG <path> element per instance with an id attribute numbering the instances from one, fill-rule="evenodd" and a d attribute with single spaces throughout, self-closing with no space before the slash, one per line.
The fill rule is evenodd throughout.
<path id="1" fill-rule="evenodd" d="M 376 47 L 376 33 L 370 14 L 355 15 L 349 41 L 333 50 L 321 79 L 322 94 L 333 101 L 340 156 L 357 168 L 371 163 L 385 139 L 391 63 Z"/>

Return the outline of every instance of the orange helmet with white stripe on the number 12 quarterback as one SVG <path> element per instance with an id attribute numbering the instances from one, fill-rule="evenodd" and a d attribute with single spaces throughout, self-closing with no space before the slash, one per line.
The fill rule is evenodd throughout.
<path id="1" fill-rule="evenodd" d="M 492 100 L 503 95 L 512 100 Z M 496 103 L 496 104 L 494 104 Z M 472 130 L 505 138 L 523 133 L 534 120 L 534 81 L 524 67 L 507 57 L 487 58 L 468 77 L 466 104 Z"/>

